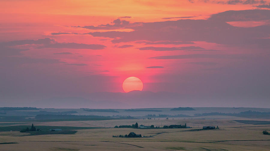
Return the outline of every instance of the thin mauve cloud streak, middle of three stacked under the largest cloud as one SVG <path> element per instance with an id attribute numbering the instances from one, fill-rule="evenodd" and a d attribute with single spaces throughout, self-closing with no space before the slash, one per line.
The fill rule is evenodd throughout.
<path id="1" fill-rule="evenodd" d="M 204 49 L 197 46 L 187 46 L 187 47 L 142 47 L 139 50 L 154 50 L 154 51 L 174 51 L 174 50 L 190 50 L 190 49 Z"/>

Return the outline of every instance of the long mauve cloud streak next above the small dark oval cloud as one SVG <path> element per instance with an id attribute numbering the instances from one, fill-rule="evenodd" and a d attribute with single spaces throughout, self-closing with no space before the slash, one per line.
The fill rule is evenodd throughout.
<path id="1" fill-rule="evenodd" d="M 149 59 L 194 59 L 194 58 L 234 58 L 245 59 L 246 55 L 227 55 L 227 54 L 189 54 L 189 55 L 173 55 L 173 56 L 157 56 L 150 57 Z"/>

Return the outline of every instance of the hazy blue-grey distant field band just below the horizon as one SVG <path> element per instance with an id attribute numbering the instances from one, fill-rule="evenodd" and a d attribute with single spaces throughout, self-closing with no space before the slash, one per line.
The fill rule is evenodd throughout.
<path id="1" fill-rule="evenodd" d="M 2 116 L 35 116 L 38 114 L 59 114 L 65 112 L 77 112 L 71 113 L 72 115 L 99 115 L 99 116 L 134 116 L 134 117 L 142 117 L 148 114 L 155 114 L 155 115 L 188 115 L 194 116 L 194 114 L 202 114 L 202 113 L 240 113 L 245 111 L 256 111 L 256 112 L 270 112 L 268 108 L 247 108 L 247 107 L 193 107 L 194 110 L 180 110 L 175 111 L 171 110 L 172 108 L 147 108 L 147 109 L 135 109 L 141 110 L 140 112 L 131 112 L 126 109 L 38 109 L 38 110 L 2 110 L 1 112 L 6 113 Z M 91 112 L 85 111 L 91 110 Z M 115 112 L 108 112 L 113 110 Z M 98 112 L 95 112 L 98 111 Z M 104 112 L 102 112 L 104 111 Z M 157 112 L 158 111 L 158 112 Z M 185 117 L 186 118 L 186 117 Z M 205 118 L 205 119 L 216 119 L 217 117 L 195 117 L 195 118 Z M 220 119 L 232 119 L 232 116 L 219 116 Z M 236 117 L 238 118 L 238 117 Z"/>

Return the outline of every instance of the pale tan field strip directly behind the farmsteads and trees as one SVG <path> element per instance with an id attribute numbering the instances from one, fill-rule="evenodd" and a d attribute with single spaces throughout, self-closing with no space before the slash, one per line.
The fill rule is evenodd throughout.
<path id="1" fill-rule="evenodd" d="M 234 120 L 227 119 L 216 119 L 216 120 L 205 120 L 205 119 L 131 119 L 131 120 L 102 120 L 102 121 L 52 121 L 52 122 L 33 122 L 35 126 L 68 126 L 68 127 L 114 127 L 119 125 L 132 125 L 138 122 L 143 125 L 154 125 L 163 127 L 164 125 L 172 124 L 187 124 L 190 127 L 202 127 L 205 125 L 219 126 L 219 127 L 241 127 L 241 126 L 254 126 L 253 124 L 240 123 Z M 1 124 L 1 123 L 0 123 Z M 18 124 L 10 126 L 31 126 L 32 123 Z M 270 124 L 269 124 L 270 125 Z M 258 125 L 259 126 L 259 125 Z M 1 130 L 0 126 L 0 130 Z"/>

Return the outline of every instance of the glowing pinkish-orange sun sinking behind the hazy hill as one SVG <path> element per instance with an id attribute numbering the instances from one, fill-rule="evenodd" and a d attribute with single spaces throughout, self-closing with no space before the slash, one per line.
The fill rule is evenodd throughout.
<path id="1" fill-rule="evenodd" d="M 122 86 L 125 92 L 130 92 L 133 90 L 143 90 L 143 82 L 137 77 L 126 78 Z"/>

